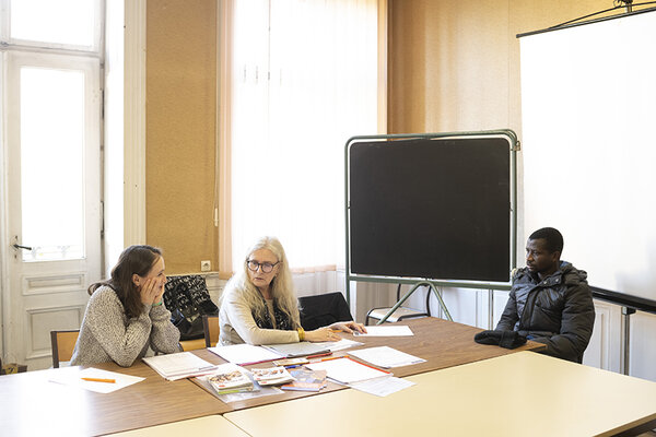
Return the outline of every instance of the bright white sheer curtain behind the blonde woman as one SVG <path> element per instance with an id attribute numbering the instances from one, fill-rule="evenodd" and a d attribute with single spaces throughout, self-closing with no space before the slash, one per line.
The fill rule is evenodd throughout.
<path id="1" fill-rule="evenodd" d="M 343 263 L 344 143 L 378 131 L 378 3 L 231 3 L 233 269 L 261 235 L 280 238 L 295 272 Z"/>

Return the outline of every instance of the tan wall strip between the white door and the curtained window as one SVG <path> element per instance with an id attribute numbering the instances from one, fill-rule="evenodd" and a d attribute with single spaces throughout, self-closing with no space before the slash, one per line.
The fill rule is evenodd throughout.
<path id="1" fill-rule="evenodd" d="M 218 270 L 216 1 L 147 4 L 147 241 L 169 274 Z"/>

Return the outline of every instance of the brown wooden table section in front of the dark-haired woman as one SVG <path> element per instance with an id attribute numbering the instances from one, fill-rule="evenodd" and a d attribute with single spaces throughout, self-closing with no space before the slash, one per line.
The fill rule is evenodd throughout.
<path id="1" fill-rule="evenodd" d="M 232 410 L 191 381 L 167 381 L 142 362 L 93 367 L 145 380 L 103 394 L 50 382 L 62 369 L 0 376 L 0 435 L 91 436 Z"/>

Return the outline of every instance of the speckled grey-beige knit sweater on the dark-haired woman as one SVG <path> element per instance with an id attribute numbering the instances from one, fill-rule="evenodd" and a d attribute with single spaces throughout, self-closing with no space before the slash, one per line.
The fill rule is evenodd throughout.
<path id="1" fill-rule="evenodd" d="M 102 286 L 86 305 L 71 365 L 115 362 L 129 367 L 145 355 L 149 346 L 165 354 L 179 352 L 179 336 L 164 304 L 144 305 L 139 317 L 128 319 L 114 290 Z"/>

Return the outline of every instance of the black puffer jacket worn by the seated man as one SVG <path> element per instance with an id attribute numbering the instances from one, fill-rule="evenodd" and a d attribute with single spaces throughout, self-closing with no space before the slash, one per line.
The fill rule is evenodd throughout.
<path id="1" fill-rule="evenodd" d="M 566 261 L 542 281 L 528 269 L 518 269 L 496 330 L 519 331 L 544 343 L 544 354 L 581 363 L 595 324 L 586 279 L 586 272 Z"/>

